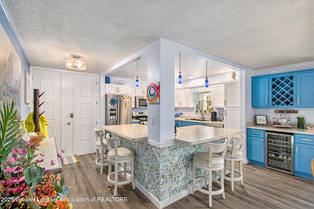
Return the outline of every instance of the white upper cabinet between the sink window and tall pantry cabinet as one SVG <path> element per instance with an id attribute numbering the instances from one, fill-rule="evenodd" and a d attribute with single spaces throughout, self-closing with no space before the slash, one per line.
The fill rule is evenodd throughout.
<path id="1" fill-rule="evenodd" d="M 239 80 L 224 82 L 224 107 L 240 107 Z"/>

